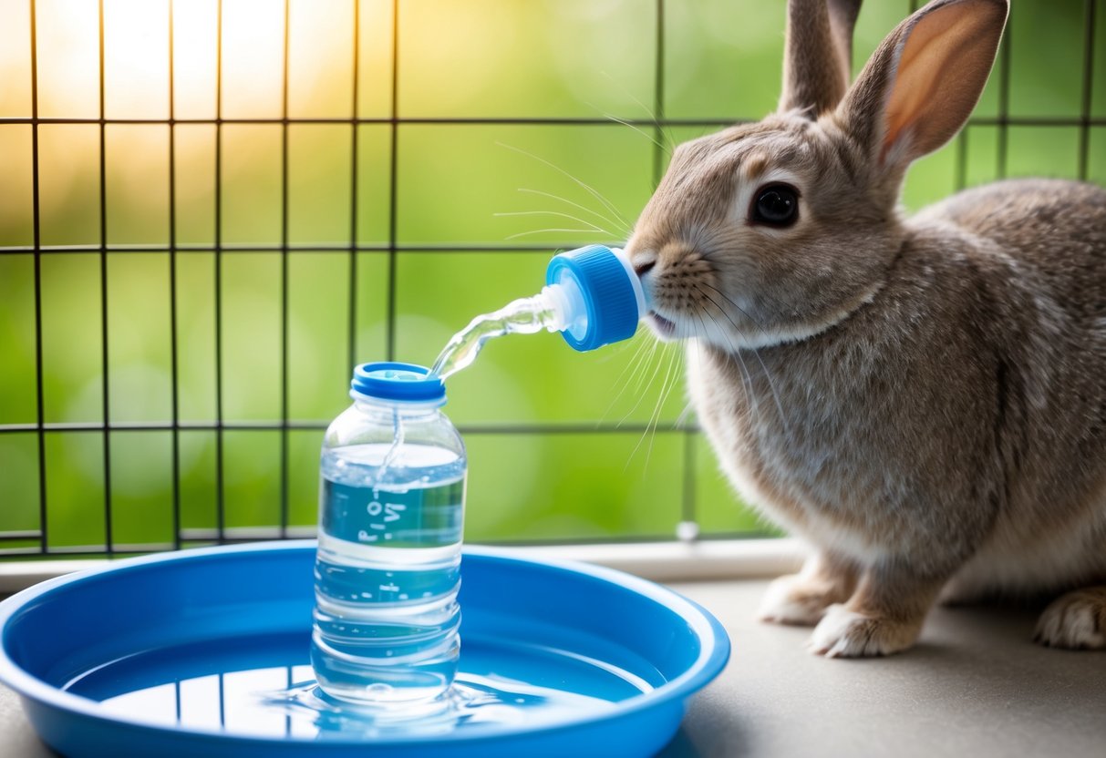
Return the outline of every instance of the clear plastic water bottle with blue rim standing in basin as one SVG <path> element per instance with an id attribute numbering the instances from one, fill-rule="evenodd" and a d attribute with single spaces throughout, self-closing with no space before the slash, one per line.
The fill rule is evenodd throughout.
<path id="1" fill-rule="evenodd" d="M 332 697 L 411 713 L 457 673 L 465 444 L 426 368 L 364 364 L 351 387 L 323 440 L 311 664 Z"/>

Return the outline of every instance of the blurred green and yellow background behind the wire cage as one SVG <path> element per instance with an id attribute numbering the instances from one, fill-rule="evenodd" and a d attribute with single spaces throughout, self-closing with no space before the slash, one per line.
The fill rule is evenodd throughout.
<path id="1" fill-rule="evenodd" d="M 914 4 L 867 3 L 857 67 Z M 555 250 L 624 240 L 667 157 L 654 139 L 774 108 L 784 19 L 783 0 L 361 0 L 355 27 L 351 0 L 290 0 L 285 66 L 284 1 L 223 0 L 217 81 L 217 2 L 177 0 L 170 127 L 167 0 L 104 0 L 103 114 L 97 2 L 35 6 L 42 414 L 92 428 L 45 434 L 50 551 L 204 543 L 220 478 L 229 536 L 264 536 L 282 507 L 310 529 L 351 358 L 384 358 L 390 333 L 396 358 L 428 364 L 473 315 L 536 291 Z M 909 209 L 1001 176 L 1106 182 L 1106 2 L 1013 6 L 972 123 L 911 169 Z M 43 548 L 17 538 L 42 526 L 38 433 L 12 431 L 39 418 L 30 8 L 0 0 L 9 554 Z M 107 421 L 171 425 L 170 274 L 178 535 L 173 432 L 96 429 L 105 355 Z M 771 533 L 695 431 L 678 351 L 647 334 L 587 355 L 502 339 L 449 393 L 469 540 L 669 538 L 681 519 Z M 249 429 L 279 425 L 285 401 L 291 429 Z"/>

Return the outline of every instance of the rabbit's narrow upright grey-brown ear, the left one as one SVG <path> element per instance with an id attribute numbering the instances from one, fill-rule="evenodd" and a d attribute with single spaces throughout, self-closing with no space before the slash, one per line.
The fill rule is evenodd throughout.
<path id="1" fill-rule="evenodd" d="M 781 112 L 797 108 L 815 119 L 837 107 L 852 78 L 859 12 L 860 0 L 787 0 Z"/>

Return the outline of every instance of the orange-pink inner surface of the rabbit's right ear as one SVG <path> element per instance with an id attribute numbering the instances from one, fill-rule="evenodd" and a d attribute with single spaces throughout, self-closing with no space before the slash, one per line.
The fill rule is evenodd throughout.
<path id="1" fill-rule="evenodd" d="M 936 150 L 963 125 L 991 71 L 1002 32 L 999 7 L 987 0 L 926 13 L 899 55 L 886 107 L 880 158 L 895 149 L 907 161 Z M 907 144 L 898 144 L 906 138 Z"/>

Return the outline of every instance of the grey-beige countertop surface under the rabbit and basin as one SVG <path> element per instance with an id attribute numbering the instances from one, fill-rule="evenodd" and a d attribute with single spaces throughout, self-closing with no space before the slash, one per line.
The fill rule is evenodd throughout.
<path id="1" fill-rule="evenodd" d="M 808 630 L 753 620 L 765 583 L 671 585 L 719 618 L 733 655 L 662 758 L 1106 756 L 1106 653 L 1034 645 L 1034 612 L 938 608 L 907 653 L 826 660 L 804 650 Z M 0 754 L 55 755 L 2 685 Z"/>

